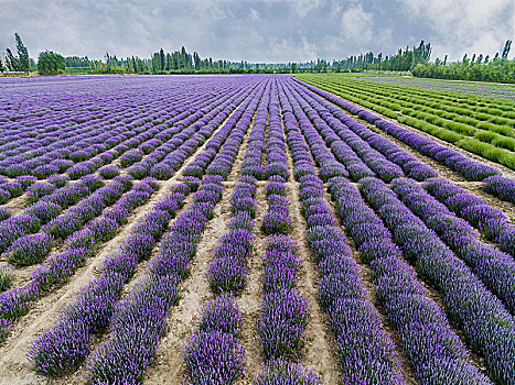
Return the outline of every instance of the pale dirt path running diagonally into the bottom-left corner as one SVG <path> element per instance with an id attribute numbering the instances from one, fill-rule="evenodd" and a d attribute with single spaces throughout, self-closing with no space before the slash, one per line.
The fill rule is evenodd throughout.
<path id="1" fill-rule="evenodd" d="M 236 110 L 236 109 L 235 109 Z M 233 111 L 234 113 L 234 111 Z M 232 114 L 229 114 L 230 117 Z M 229 119 L 227 117 L 227 119 Z M 224 127 L 227 119 L 215 131 Z M 215 132 L 213 134 L 215 134 Z M 45 384 L 46 377 L 39 376 L 26 367 L 26 351 L 31 342 L 44 329 L 49 328 L 56 319 L 62 307 L 68 304 L 78 290 L 84 287 L 95 276 L 99 275 L 99 267 L 103 261 L 109 254 L 116 252 L 127 235 L 130 234 L 132 227 L 137 221 L 151 211 L 153 205 L 163 199 L 170 191 L 170 187 L 179 182 L 181 172 L 195 158 L 196 154 L 202 153 L 207 144 L 206 141 L 199 147 L 192 156 L 190 156 L 180 170 L 170 179 L 160 183 L 160 188 L 152 195 L 149 201 L 137 208 L 128 218 L 129 224 L 121 227 L 117 235 L 101 245 L 97 254 L 86 261 L 86 265 L 79 267 L 71 282 L 58 289 L 53 290 L 50 295 L 36 301 L 30 312 L 19 319 L 12 328 L 11 334 L 8 337 L 3 345 L 0 348 L 0 385 L 1 384 Z M 51 382 L 56 384 L 56 381 Z M 50 383 L 49 383 L 50 384 Z"/>

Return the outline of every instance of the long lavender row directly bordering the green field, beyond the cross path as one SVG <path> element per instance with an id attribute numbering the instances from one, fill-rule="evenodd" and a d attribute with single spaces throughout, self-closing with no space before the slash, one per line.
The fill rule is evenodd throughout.
<path id="1" fill-rule="evenodd" d="M 487 166 L 483 163 L 472 161 L 470 157 L 461 154 L 458 151 L 451 150 L 444 145 L 440 145 L 434 141 L 420 135 L 418 133 L 411 132 L 407 129 L 404 129 L 395 123 L 386 121 L 372 112 L 363 110 L 360 107 L 351 105 L 336 96 L 323 91 L 316 87 L 308 85 L 303 81 L 297 80 L 305 88 L 312 90 L 313 92 L 322 96 L 332 103 L 350 111 L 353 114 L 357 114 L 360 118 L 375 124 L 379 129 L 384 130 L 386 133 L 391 134 L 396 139 L 400 140 L 403 143 L 406 143 L 410 147 L 417 150 L 418 152 L 432 157 L 433 160 L 447 165 L 451 169 L 460 173 L 465 178 L 470 180 L 483 180 L 492 175 L 501 175 L 502 172 L 492 166 Z"/>

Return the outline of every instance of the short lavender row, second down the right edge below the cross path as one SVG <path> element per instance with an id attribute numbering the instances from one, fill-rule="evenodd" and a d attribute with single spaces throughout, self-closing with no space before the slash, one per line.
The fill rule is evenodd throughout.
<path id="1" fill-rule="evenodd" d="M 489 206 L 483 199 L 447 179 L 428 179 L 423 188 L 487 239 L 498 242 L 501 250 L 515 256 L 515 229 L 502 210 Z"/>

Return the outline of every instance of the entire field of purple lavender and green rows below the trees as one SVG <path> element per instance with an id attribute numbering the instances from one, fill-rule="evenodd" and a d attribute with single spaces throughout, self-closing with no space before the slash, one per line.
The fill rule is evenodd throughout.
<path id="1" fill-rule="evenodd" d="M 0 80 L 0 384 L 515 384 L 515 101 L 471 88 Z"/>

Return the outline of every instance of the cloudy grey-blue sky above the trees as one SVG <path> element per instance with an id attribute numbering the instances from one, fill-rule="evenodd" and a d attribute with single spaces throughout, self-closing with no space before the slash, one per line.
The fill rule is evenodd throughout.
<path id="1" fill-rule="evenodd" d="M 216 59 L 308 62 L 425 40 L 431 61 L 454 61 L 493 56 L 514 30 L 515 0 L 0 0 L 0 50 L 19 32 L 31 57 L 149 57 L 184 45 Z"/>

